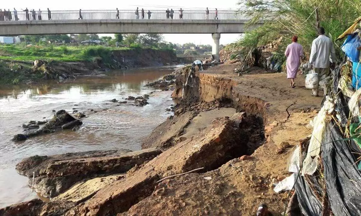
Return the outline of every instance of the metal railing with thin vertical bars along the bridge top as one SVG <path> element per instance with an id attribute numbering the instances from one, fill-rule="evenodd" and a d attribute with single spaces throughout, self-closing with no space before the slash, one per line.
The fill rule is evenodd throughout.
<path id="1" fill-rule="evenodd" d="M 103 19 L 172 19 L 171 16 L 167 18 L 166 10 L 139 10 L 139 17 L 136 15 L 135 10 L 54 10 L 54 11 L 14 11 L 6 13 L 0 12 L 1 21 L 33 21 L 33 20 L 74 20 L 74 19 L 90 19 L 90 20 L 103 20 Z M 17 15 L 16 15 L 17 14 Z M 217 15 L 216 15 L 217 14 Z M 261 20 L 269 20 L 274 17 L 276 13 L 267 13 Z M 183 10 L 181 17 L 180 10 L 173 11 L 173 19 L 186 19 L 186 20 L 250 20 L 254 18 L 249 12 L 238 10 L 209 10 L 206 14 L 205 10 Z"/>

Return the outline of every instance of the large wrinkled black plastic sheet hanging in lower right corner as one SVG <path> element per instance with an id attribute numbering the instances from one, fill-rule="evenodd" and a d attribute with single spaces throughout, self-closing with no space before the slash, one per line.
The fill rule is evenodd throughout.
<path id="1" fill-rule="evenodd" d="M 322 162 L 331 211 L 334 215 L 361 215 L 361 173 L 349 141 L 334 123 L 326 129 Z"/>

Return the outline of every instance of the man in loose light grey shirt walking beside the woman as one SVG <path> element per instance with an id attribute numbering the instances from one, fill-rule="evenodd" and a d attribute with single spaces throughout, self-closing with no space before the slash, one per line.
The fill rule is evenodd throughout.
<path id="1" fill-rule="evenodd" d="M 325 29 L 320 27 L 318 28 L 318 37 L 312 42 L 310 54 L 310 64 L 314 72 L 318 74 L 318 81 L 322 81 L 330 75 L 330 55 L 331 68 L 334 68 L 336 54 L 333 42 L 325 35 Z M 312 96 L 318 96 L 318 86 L 312 89 Z"/>

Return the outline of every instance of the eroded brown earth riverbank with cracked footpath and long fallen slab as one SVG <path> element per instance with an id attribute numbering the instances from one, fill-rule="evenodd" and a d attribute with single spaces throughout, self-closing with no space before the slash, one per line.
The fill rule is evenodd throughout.
<path id="1" fill-rule="evenodd" d="M 287 194 L 274 193 L 273 183 L 287 175 L 290 148 L 309 135 L 306 125 L 317 113 L 321 98 L 312 98 L 303 87 L 291 89 L 283 74 L 255 69 L 256 74 L 237 76 L 234 67 L 222 65 L 196 74 L 188 87 L 180 85 L 187 76 L 176 82 L 175 116 L 157 126 L 142 144 L 160 148 L 159 156 L 88 193 L 80 202 L 55 198 L 3 212 L 253 215 L 258 204 L 266 202 L 279 215 Z M 282 145 L 284 141 L 288 145 Z M 162 180 L 193 169 L 200 173 Z"/>

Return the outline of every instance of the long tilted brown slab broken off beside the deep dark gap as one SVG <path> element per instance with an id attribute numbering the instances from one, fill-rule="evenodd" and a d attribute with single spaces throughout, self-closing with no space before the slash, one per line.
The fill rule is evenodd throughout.
<path id="1" fill-rule="evenodd" d="M 212 170 L 229 160 L 234 150 L 244 148 L 242 137 L 236 134 L 229 118 L 217 118 L 199 135 L 178 143 L 131 173 L 123 181 L 116 181 L 100 189 L 81 206 L 67 215 L 116 215 L 149 196 L 157 181 L 203 167 Z M 244 148 L 245 150 L 245 148 Z"/>

